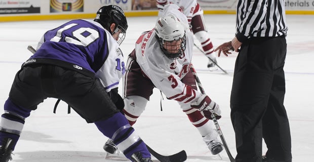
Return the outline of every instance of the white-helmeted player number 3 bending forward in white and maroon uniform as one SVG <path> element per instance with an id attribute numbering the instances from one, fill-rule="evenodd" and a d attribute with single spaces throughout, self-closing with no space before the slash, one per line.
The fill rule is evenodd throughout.
<path id="1" fill-rule="evenodd" d="M 190 70 L 193 41 L 186 16 L 177 5 L 166 5 L 154 29 L 138 38 L 128 57 L 123 77 L 124 113 L 131 126 L 134 125 L 153 89 L 158 88 L 168 99 L 178 101 L 212 154 L 218 154 L 223 147 L 210 119 L 212 113 L 220 118 L 220 109 L 209 96 L 197 91 Z M 109 139 L 104 149 L 114 153 L 114 146 Z"/>

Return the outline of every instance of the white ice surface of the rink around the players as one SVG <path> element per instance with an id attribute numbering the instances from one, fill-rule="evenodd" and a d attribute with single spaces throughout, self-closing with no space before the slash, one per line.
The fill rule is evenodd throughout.
<path id="1" fill-rule="evenodd" d="M 122 50 L 126 56 L 133 50 L 137 37 L 142 31 L 154 26 L 156 17 L 129 17 L 129 28 Z M 8 98 L 15 73 L 31 53 L 28 45 L 36 47 L 42 34 L 66 22 L 25 21 L 0 23 L 0 103 Z M 234 36 L 234 15 L 205 15 L 210 37 L 215 47 L 231 41 Z M 314 159 L 314 15 L 287 15 L 288 53 L 286 58 L 286 97 L 285 106 L 290 119 L 293 161 Z M 196 40 L 196 39 L 195 39 Z M 195 41 L 200 46 L 200 44 Z M 201 79 L 205 92 L 222 109 L 219 124 L 228 147 L 236 155 L 234 132 L 230 121 L 230 89 L 234 61 L 237 53 L 218 58 L 221 70 L 209 72 L 208 59 L 194 47 L 193 63 Z M 57 113 L 53 107 L 56 99 L 49 98 L 26 118 L 20 140 L 14 150 L 13 161 L 52 162 L 52 161 L 112 161 L 105 159 L 102 149 L 107 140 L 95 127 L 87 124 L 73 110 L 67 114 L 67 105 L 60 102 Z M 160 111 L 161 93 L 154 90 L 146 110 L 134 128 L 141 138 L 161 154 L 173 154 L 180 150 L 187 152 L 190 162 L 229 161 L 225 151 L 222 159 L 212 155 L 202 137 L 189 122 L 177 102 L 163 100 Z M 3 108 L 0 114 L 3 113 Z M 265 153 L 266 148 L 263 148 Z"/>

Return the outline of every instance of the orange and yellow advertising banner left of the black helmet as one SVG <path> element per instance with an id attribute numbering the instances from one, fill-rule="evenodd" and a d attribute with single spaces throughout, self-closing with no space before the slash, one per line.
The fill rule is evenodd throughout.
<path id="1" fill-rule="evenodd" d="M 84 0 L 50 0 L 50 12 L 84 12 Z"/>

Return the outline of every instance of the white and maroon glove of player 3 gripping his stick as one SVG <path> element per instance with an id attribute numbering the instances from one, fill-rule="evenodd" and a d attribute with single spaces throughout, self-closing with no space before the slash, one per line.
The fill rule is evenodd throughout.
<path id="1" fill-rule="evenodd" d="M 221 110 L 219 105 L 212 101 L 206 94 L 202 95 L 197 101 L 191 103 L 191 107 L 198 109 L 208 119 L 213 119 L 212 114 L 217 119 L 221 118 Z"/>

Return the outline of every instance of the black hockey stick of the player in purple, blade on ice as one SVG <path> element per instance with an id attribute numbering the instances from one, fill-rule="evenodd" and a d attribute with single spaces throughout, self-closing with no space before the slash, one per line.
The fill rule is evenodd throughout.
<path id="1" fill-rule="evenodd" d="M 27 50 L 29 50 L 32 54 L 36 52 L 36 50 L 32 46 L 28 46 Z M 178 153 L 175 153 L 173 155 L 166 156 L 166 155 L 161 155 L 158 152 L 154 151 L 148 145 L 146 145 L 146 147 L 148 151 L 161 162 L 183 162 L 187 158 L 186 152 L 184 150 Z"/>

